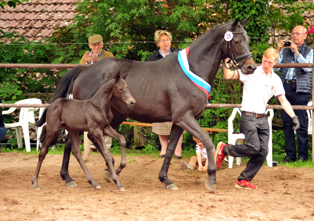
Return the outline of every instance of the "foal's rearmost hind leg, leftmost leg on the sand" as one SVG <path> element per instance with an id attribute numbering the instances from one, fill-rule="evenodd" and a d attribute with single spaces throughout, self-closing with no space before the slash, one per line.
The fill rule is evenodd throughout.
<path id="1" fill-rule="evenodd" d="M 55 128 L 53 133 L 51 133 L 51 132 L 49 132 L 50 130 L 49 130 L 48 126 L 50 126 L 50 125 L 46 126 L 46 139 L 45 139 L 44 144 L 40 147 L 40 152 L 38 154 L 37 167 L 36 167 L 35 173 L 33 175 L 33 178 L 31 179 L 31 183 L 33 184 L 35 190 L 40 190 L 40 188 L 38 186 L 38 174 L 39 174 L 41 165 L 42 165 L 42 163 L 43 163 L 43 161 L 44 161 L 44 159 L 48 153 L 48 148 L 50 147 L 52 141 L 54 141 L 58 137 L 59 132 L 60 132 L 60 127 L 59 127 L 59 130 L 57 130 L 57 128 Z"/>

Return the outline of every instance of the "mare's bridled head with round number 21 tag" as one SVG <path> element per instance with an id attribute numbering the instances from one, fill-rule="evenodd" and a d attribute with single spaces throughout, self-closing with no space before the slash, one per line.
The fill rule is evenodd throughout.
<path id="1" fill-rule="evenodd" d="M 235 19 L 233 23 L 229 23 L 223 44 L 225 56 L 229 57 L 243 74 L 253 74 L 257 68 L 249 49 L 250 37 L 244 30 L 250 19 L 251 17 L 248 17 L 241 22 Z"/>

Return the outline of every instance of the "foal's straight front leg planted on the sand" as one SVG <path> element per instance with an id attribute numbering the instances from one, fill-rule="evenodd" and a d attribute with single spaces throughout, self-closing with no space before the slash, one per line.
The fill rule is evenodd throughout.
<path id="1" fill-rule="evenodd" d="M 91 134 L 95 138 L 96 142 L 99 144 L 99 147 L 102 149 L 102 151 L 104 153 L 105 161 L 108 163 L 108 167 L 109 167 L 109 169 L 111 171 L 112 180 L 117 185 L 118 190 L 125 191 L 125 189 L 122 186 L 122 184 L 120 183 L 118 175 L 116 174 L 116 172 L 115 172 L 115 170 L 113 168 L 113 165 L 111 163 L 111 153 L 110 153 L 108 147 L 105 144 L 103 131 L 97 128 L 97 129 L 94 129 L 93 131 L 91 131 Z"/>

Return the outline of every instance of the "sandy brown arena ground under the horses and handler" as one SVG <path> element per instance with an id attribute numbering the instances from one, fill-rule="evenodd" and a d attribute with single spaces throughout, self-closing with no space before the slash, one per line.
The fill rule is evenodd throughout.
<path id="1" fill-rule="evenodd" d="M 117 163 L 120 157 L 114 156 Z M 188 159 L 183 159 L 188 161 Z M 257 190 L 235 188 L 245 165 L 217 171 L 217 189 L 205 188 L 206 172 L 183 172 L 173 159 L 168 177 L 179 191 L 159 182 L 163 159 L 127 157 L 119 175 L 126 192 L 106 183 L 105 163 L 91 154 L 86 166 L 102 189 L 95 190 L 71 156 L 69 172 L 77 188 L 65 187 L 59 172 L 62 155 L 47 155 L 39 174 L 41 191 L 31 178 L 34 155 L 0 153 L 0 221 L 313 221 L 314 169 L 263 166 L 253 184 Z M 117 166 L 117 165 L 116 165 Z"/>

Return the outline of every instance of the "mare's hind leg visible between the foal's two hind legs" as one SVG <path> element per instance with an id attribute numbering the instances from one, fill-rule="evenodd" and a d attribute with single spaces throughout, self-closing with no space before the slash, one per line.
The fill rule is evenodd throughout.
<path id="1" fill-rule="evenodd" d="M 69 175 L 69 162 L 71 155 L 71 138 L 70 135 L 67 134 L 64 139 L 64 152 L 63 152 L 63 160 L 60 171 L 60 176 L 65 180 L 66 187 L 77 187 L 78 184 L 70 177 Z"/>

